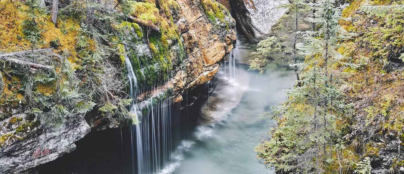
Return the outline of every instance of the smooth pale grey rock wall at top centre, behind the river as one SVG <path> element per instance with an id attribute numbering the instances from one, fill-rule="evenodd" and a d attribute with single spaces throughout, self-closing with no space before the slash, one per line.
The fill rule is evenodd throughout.
<path id="1" fill-rule="evenodd" d="M 251 40 L 267 34 L 286 9 L 276 8 L 287 0 L 230 0 L 233 17 L 238 27 Z"/>

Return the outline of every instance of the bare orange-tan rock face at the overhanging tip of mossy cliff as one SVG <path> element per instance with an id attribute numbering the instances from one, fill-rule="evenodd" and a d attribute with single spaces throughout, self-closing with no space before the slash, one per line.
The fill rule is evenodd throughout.
<path id="1" fill-rule="evenodd" d="M 177 100 L 185 90 L 209 81 L 219 70 L 219 64 L 234 48 L 236 22 L 227 14 L 215 25 L 200 7 L 199 0 L 178 0 L 181 18 L 177 26 L 186 45 L 185 70 L 176 73 L 171 81 Z M 226 11 L 223 11 L 226 14 Z"/>

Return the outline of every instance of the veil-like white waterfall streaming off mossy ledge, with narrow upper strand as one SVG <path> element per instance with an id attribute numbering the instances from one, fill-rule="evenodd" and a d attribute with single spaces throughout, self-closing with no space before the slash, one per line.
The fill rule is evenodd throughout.
<path id="1" fill-rule="evenodd" d="M 126 48 L 125 48 L 126 49 Z M 172 103 L 171 98 L 147 98 L 138 104 L 137 78 L 125 54 L 126 68 L 128 69 L 129 94 L 133 98 L 130 105 L 130 113 L 139 115 L 141 123 L 130 127 L 131 164 L 126 171 L 130 174 L 167 174 L 173 172 L 182 159 L 181 140 L 190 131 L 184 131 L 184 124 L 187 119 L 181 121 L 181 104 Z M 154 96 L 161 94 L 154 94 Z M 143 113 L 143 107 L 148 113 Z M 141 117 L 140 117 L 141 116 Z M 181 123 L 182 122 L 182 123 Z M 186 128 L 186 126 L 185 126 Z M 188 145 L 189 146 L 189 145 Z M 186 146 L 187 147 L 187 146 Z M 178 150 L 180 148 L 180 150 Z M 124 169 L 125 170 L 125 169 Z M 124 172 L 126 174 L 128 172 Z"/>

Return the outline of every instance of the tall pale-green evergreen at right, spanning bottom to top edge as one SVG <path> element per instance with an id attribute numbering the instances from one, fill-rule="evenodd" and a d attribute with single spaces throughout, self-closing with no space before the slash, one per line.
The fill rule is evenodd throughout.
<path id="1" fill-rule="evenodd" d="M 303 63 L 294 66 L 301 70 L 301 86 L 286 90 L 287 100 L 276 106 L 266 116 L 276 118 L 278 126 L 269 131 L 269 139 L 263 139 L 256 147 L 258 158 L 267 167 L 290 173 L 317 173 L 325 171 L 332 160 L 331 135 L 338 136 L 336 121 L 351 111 L 344 94 L 334 86 L 339 79 L 328 76 L 329 67 L 343 58 L 337 52 L 340 42 L 349 39 L 339 24 L 341 10 L 334 0 L 320 0 L 311 4 L 316 13 L 309 19 L 316 24 L 316 31 L 298 32 L 304 41 L 297 43 Z M 278 117 L 282 116 L 282 117 Z M 343 147 L 341 143 L 337 147 Z M 327 155 L 331 154 L 331 155 Z M 338 157 L 341 162 L 342 155 Z M 343 169 L 341 169 L 342 172 Z"/>

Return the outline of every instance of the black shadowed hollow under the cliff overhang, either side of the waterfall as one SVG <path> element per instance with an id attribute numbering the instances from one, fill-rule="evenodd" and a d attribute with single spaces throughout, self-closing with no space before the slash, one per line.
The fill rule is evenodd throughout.
<path id="1" fill-rule="evenodd" d="M 206 100 L 207 92 L 206 85 L 202 84 L 183 94 L 182 102 L 172 104 L 173 112 L 180 113 L 180 121 L 173 123 L 172 127 L 181 127 L 181 136 L 175 137 L 176 141 L 187 138 L 194 131 L 198 112 Z M 38 166 L 36 171 L 38 174 L 132 174 L 137 171 L 136 158 L 132 158 L 136 156 L 132 154 L 132 134 L 131 127 L 92 130 L 76 141 L 74 151 Z"/>

